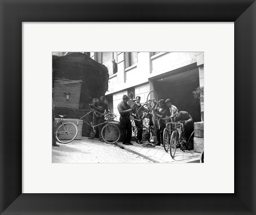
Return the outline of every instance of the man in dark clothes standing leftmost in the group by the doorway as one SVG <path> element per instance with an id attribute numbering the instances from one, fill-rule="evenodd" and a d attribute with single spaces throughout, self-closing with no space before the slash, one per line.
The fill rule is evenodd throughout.
<path id="1" fill-rule="evenodd" d="M 129 97 L 127 95 L 123 95 L 123 101 L 117 105 L 118 112 L 120 113 L 120 124 L 121 131 L 123 135 L 123 144 L 124 145 L 133 145 L 131 143 L 132 138 L 132 124 L 129 118 L 132 109 L 127 102 L 129 101 Z"/>

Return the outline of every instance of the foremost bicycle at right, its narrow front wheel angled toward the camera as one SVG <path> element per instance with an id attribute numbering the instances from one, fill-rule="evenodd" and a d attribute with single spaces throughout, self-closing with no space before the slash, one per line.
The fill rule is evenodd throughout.
<path id="1" fill-rule="evenodd" d="M 194 144 L 194 131 L 190 135 L 188 141 L 186 142 L 185 138 L 185 129 L 184 129 L 184 121 L 180 122 L 169 122 L 167 123 L 166 127 L 171 133 L 170 139 L 170 155 L 174 158 L 176 148 L 180 145 L 181 150 L 184 151 L 186 147 L 189 146 L 189 150 L 193 147 Z"/>

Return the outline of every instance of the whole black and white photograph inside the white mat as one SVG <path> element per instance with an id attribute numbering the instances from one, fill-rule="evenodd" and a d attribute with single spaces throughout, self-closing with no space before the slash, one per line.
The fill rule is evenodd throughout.
<path id="1" fill-rule="evenodd" d="M 52 52 L 52 163 L 203 163 L 204 52 Z"/>

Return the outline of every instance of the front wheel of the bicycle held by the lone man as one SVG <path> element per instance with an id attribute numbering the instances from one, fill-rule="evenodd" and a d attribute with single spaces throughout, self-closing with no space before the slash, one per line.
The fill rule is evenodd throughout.
<path id="1" fill-rule="evenodd" d="M 101 129 L 101 137 L 106 143 L 116 143 L 120 138 L 120 130 L 116 125 L 107 124 Z"/>

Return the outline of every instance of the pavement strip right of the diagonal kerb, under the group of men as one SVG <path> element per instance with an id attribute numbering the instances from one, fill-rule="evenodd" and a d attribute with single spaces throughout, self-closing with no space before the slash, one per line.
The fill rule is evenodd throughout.
<path id="1" fill-rule="evenodd" d="M 143 158 L 149 159 L 156 163 L 199 163 L 201 153 L 193 150 L 185 152 L 177 148 L 174 158 L 172 159 L 170 151 L 167 153 L 162 146 L 153 148 L 143 147 L 141 144 L 133 142 L 133 145 L 124 145 L 122 142 L 117 142 L 118 146 L 123 146 L 125 150 L 138 154 Z"/>

